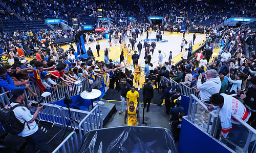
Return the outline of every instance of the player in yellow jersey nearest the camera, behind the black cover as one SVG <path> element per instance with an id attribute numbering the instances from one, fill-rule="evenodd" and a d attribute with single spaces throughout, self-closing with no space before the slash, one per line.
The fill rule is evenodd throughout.
<path id="1" fill-rule="evenodd" d="M 130 101 L 129 107 L 125 109 L 125 115 L 124 115 L 124 123 L 126 124 L 126 118 L 128 116 L 128 122 L 127 125 L 138 125 L 140 123 L 140 114 L 138 107 L 134 106 L 134 102 Z"/>

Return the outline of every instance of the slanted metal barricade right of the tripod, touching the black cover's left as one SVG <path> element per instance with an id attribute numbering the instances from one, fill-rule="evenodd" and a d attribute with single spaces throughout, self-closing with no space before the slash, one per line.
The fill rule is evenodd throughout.
<path id="1" fill-rule="evenodd" d="M 80 141 L 82 142 L 82 135 L 86 133 L 86 130 L 93 130 L 93 129 L 99 129 L 102 128 L 103 121 L 102 121 L 102 115 L 100 114 L 100 106 L 96 105 L 93 110 L 88 114 L 86 117 L 84 117 L 78 126 L 79 130 L 79 137 Z"/>

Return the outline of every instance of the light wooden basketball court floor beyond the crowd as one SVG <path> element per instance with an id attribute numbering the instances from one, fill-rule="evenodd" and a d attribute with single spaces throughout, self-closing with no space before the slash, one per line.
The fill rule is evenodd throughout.
<path id="1" fill-rule="evenodd" d="M 151 43 L 152 41 L 155 41 L 155 38 L 156 38 L 156 33 L 154 31 L 152 31 L 152 34 L 148 36 L 148 39 L 146 39 L 146 33 L 144 33 L 143 36 L 139 35 L 139 37 L 137 38 L 137 43 L 135 44 L 135 49 L 136 49 L 139 41 L 141 41 L 142 46 L 143 46 L 144 41 L 150 41 L 150 43 Z M 189 42 L 193 40 L 193 33 L 190 33 L 190 34 L 186 33 L 185 39 L 188 42 L 187 45 L 185 46 L 185 48 L 188 48 Z M 195 40 L 195 45 L 193 46 L 193 50 L 197 50 L 202 45 L 202 42 L 204 39 L 205 39 L 204 34 L 202 34 L 202 35 L 197 34 L 196 40 Z M 183 52 L 182 53 L 180 52 L 181 41 L 182 41 L 182 33 L 178 34 L 177 32 L 173 32 L 173 34 L 170 34 L 170 32 L 164 32 L 164 35 L 162 36 L 162 40 L 156 42 L 156 48 L 154 51 L 154 55 L 152 56 L 152 53 L 151 53 L 151 56 L 152 56 L 151 63 L 153 63 L 154 67 L 156 65 L 158 65 L 158 55 L 159 55 L 158 50 L 161 50 L 161 53 L 163 54 L 163 61 L 168 61 L 169 51 L 173 52 L 172 53 L 173 61 L 175 63 L 180 61 L 182 54 L 183 54 Z M 129 44 L 128 38 L 125 38 L 125 43 L 126 43 L 126 46 Z M 97 57 L 96 44 L 97 44 L 97 42 L 91 42 L 90 44 L 86 44 L 86 49 L 88 50 L 88 48 L 91 47 L 91 50 L 93 51 L 93 54 L 96 57 L 96 60 L 104 61 L 104 49 L 110 48 L 111 51 L 109 52 L 109 59 L 112 59 L 115 64 L 120 63 L 119 56 L 121 54 L 121 51 L 120 51 L 120 43 L 119 42 L 117 42 L 117 44 L 115 46 L 113 39 L 112 39 L 112 47 L 110 47 L 108 40 L 105 40 L 105 39 L 100 40 L 99 41 L 100 57 Z M 69 46 L 63 46 L 62 48 L 68 49 Z M 76 49 L 76 46 L 74 46 L 74 48 Z M 134 53 L 134 51 L 132 51 L 132 53 Z M 142 67 L 142 73 L 140 75 L 141 76 L 140 82 L 144 82 L 144 67 L 145 67 L 144 53 L 145 53 L 144 49 L 142 49 L 141 54 L 140 54 L 140 59 L 139 59 L 139 64 Z M 134 70 L 133 65 L 132 65 L 132 70 Z M 140 87 L 142 88 L 142 83 L 141 83 Z"/>

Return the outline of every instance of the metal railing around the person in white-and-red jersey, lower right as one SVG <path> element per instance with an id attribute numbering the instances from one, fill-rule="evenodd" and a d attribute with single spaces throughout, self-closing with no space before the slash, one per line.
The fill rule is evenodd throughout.
<path id="1" fill-rule="evenodd" d="M 197 105 L 200 104 L 204 107 L 204 109 L 209 113 L 209 119 L 208 119 L 208 124 L 206 127 L 199 127 L 201 130 L 204 132 L 208 133 L 210 136 L 213 138 L 219 139 L 220 142 L 222 142 L 223 145 L 226 145 L 230 149 L 236 151 L 236 152 L 254 152 L 256 153 L 256 143 L 254 142 L 256 140 L 256 129 L 252 128 L 249 124 L 247 124 L 245 121 L 243 121 L 241 118 L 233 116 L 240 124 L 232 125 L 232 126 L 238 126 L 239 129 L 237 128 L 232 128 L 230 133 L 237 133 L 237 132 L 242 132 L 241 136 L 233 136 L 228 135 L 227 138 L 222 139 L 219 136 L 217 136 L 217 133 L 220 128 L 221 121 L 219 119 L 219 110 L 215 111 L 208 111 L 207 106 L 200 100 L 198 99 L 194 94 L 190 96 L 190 101 L 189 101 L 189 107 L 188 107 L 188 114 L 187 114 L 187 119 L 191 121 L 193 124 L 197 124 Z M 211 125 L 210 125 L 211 123 Z M 232 132 L 232 130 L 235 130 Z M 242 137 L 243 136 L 243 137 Z M 233 140 L 234 137 L 238 140 Z M 241 143 L 243 142 L 243 143 Z M 252 143 L 252 146 L 250 146 Z M 231 147 L 232 146 L 232 147 Z M 250 146 L 250 147 L 249 147 Z M 249 150 L 250 148 L 250 150 Z"/>

